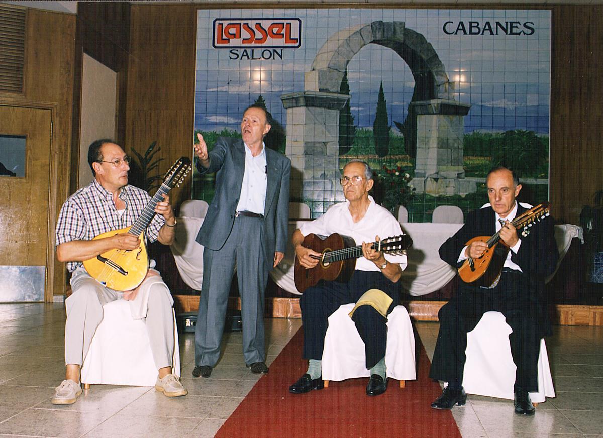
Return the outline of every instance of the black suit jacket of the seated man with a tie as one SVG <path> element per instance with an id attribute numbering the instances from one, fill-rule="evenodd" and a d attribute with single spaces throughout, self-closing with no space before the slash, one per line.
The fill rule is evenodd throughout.
<path id="1" fill-rule="evenodd" d="M 527 209 L 517 205 L 519 216 Z M 522 244 L 515 254 L 511 251 L 511 261 L 516 263 L 528 277 L 529 282 L 538 292 L 545 286 L 545 278 L 555 271 L 559 252 L 555 243 L 554 224 L 551 216 L 545 217 L 540 222 L 535 222 L 529 228 L 528 236 L 523 237 L 517 230 Z M 467 221 L 456 234 L 440 246 L 440 258 L 446 263 L 458 267 L 461 250 L 468 240 L 477 236 L 493 236 L 496 233 L 496 214 L 490 207 L 472 211 L 467 216 Z"/>

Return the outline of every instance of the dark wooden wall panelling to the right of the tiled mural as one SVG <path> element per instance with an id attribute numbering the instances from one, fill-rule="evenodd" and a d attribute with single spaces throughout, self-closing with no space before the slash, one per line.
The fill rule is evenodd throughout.
<path id="1" fill-rule="evenodd" d="M 603 189 L 603 6 L 556 5 L 552 20 L 551 202 L 579 224 Z"/>

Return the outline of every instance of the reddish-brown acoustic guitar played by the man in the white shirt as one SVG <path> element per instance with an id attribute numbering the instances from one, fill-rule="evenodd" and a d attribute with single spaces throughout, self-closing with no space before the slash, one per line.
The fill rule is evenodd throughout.
<path id="1" fill-rule="evenodd" d="M 315 286 L 320 280 L 346 283 L 356 268 L 356 258 L 362 257 L 362 245 L 356 245 L 352 237 L 341 236 L 338 233 L 333 233 L 326 239 L 324 236 L 311 233 L 304 237 L 301 245 L 321 254 L 312 256 L 318 260 L 318 264 L 309 269 L 301 266 L 295 257 L 295 287 L 300 293 L 303 293 L 308 287 Z M 387 252 L 387 254 L 404 254 L 404 251 L 411 245 L 411 237 L 400 234 L 373 242 L 371 248 Z"/>

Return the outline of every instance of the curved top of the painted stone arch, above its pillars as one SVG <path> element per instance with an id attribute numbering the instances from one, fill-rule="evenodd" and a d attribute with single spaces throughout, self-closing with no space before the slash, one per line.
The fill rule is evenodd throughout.
<path id="1" fill-rule="evenodd" d="M 374 21 L 334 33 L 314 58 L 305 89 L 338 93 L 347 64 L 368 44 L 390 48 L 400 55 L 415 78 L 416 100 L 451 98 L 453 83 L 433 46 L 402 21 Z"/>

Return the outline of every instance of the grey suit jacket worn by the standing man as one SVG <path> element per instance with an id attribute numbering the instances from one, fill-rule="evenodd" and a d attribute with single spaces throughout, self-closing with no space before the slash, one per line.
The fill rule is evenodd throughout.
<path id="1" fill-rule="evenodd" d="M 209 167 L 202 167 L 201 173 L 216 174 L 216 190 L 207 208 L 207 214 L 197 236 L 197 242 L 206 248 L 218 250 L 235 223 L 236 205 L 241 196 L 241 184 L 245 170 L 245 144 L 241 139 L 218 137 L 209 152 Z M 291 160 L 279 152 L 266 148 L 268 181 L 264 206 L 265 257 L 272 269 L 274 252 L 285 252 L 287 224 L 289 221 L 289 177 Z"/>

